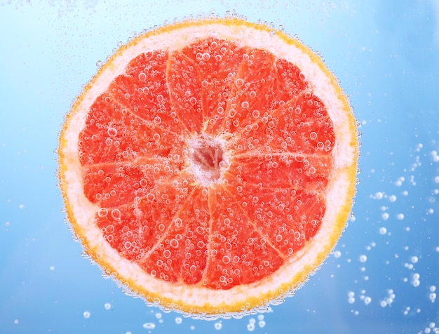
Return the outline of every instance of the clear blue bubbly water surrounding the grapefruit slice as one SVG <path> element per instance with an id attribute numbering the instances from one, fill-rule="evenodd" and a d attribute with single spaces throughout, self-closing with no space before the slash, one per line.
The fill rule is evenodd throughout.
<path id="1" fill-rule="evenodd" d="M 81 257 L 57 189 L 60 125 L 142 29 L 226 11 L 323 56 L 361 126 L 335 253 L 271 312 L 199 321 L 144 306 Z M 0 1 L 0 333 L 438 333 L 437 1 Z"/>

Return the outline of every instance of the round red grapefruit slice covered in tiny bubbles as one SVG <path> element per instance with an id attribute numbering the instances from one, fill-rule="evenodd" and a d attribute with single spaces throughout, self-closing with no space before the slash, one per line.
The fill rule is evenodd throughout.
<path id="1" fill-rule="evenodd" d="M 186 20 L 121 46 L 60 134 L 67 216 L 105 274 L 201 317 L 280 302 L 351 211 L 349 102 L 296 39 L 239 18 Z"/>

